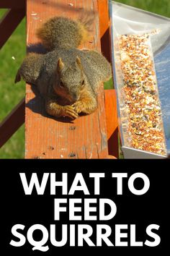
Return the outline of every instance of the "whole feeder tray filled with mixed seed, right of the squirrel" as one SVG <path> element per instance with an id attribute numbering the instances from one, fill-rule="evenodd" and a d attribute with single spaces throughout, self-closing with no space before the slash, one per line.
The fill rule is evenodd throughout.
<path id="1" fill-rule="evenodd" d="M 125 158 L 164 158 L 170 152 L 170 19 L 113 1 L 109 9 L 122 151 Z"/>

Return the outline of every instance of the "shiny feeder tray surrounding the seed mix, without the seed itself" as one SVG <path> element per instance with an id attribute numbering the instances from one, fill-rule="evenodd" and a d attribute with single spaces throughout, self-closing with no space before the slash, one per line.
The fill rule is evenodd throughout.
<path id="1" fill-rule="evenodd" d="M 111 18 L 112 40 L 112 66 L 114 84 L 117 92 L 117 109 L 119 116 L 122 151 L 125 158 L 166 158 L 170 153 L 170 19 L 160 15 L 146 12 L 141 9 L 126 6 L 115 1 L 109 1 Z M 121 35 L 143 35 L 158 31 L 151 36 L 151 55 L 153 69 L 156 73 L 156 90 L 161 106 L 162 132 L 166 152 L 158 154 L 149 150 L 133 148 L 128 143 L 128 132 L 125 125 L 125 117 L 128 113 L 122 113 L 125 105 L 125 97 L 122 95 L 123 74 L 121 69 L 120 48 L 117 40 Z M 124 84 L 124 85 L 123 85 Z"/>

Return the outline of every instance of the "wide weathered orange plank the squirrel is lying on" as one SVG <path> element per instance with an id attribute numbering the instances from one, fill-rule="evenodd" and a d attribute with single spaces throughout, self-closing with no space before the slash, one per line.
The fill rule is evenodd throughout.
<path id="1" fill-rule="evenodd" d="M 96 0 L 27 0 L 27 44 L 38 43 L 35 30 L 53 16 L 76 19 L 80 13 L 94 15 L 94 33 L 82 47 L 100 50 L 99 17 Z M 104 90 L 101 85 L 99 106 L 94 114 L 70 123 L 45 114 L 42 98 L 26 86 L 25 158 L 107 158 L 107 129 Z"/>

